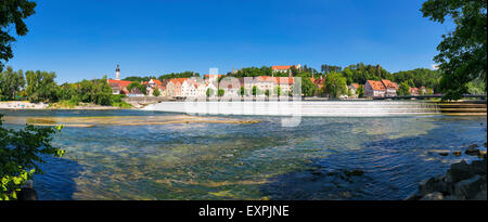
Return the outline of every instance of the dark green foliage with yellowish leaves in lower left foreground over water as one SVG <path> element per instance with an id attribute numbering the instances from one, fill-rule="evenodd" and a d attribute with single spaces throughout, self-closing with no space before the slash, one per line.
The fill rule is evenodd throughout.
<path id="1" fill-rule="evenodd" d="M 16 199 L 15 192 L 30 180 L 34 173 L 42 173 L 39 164 L 44 155 L 61 157 L 64 151 L 51 145 L 52 135 L 62 127 L 26 126 L 23 130 L 2 128 L 0 115 L 0 200 Z"/>

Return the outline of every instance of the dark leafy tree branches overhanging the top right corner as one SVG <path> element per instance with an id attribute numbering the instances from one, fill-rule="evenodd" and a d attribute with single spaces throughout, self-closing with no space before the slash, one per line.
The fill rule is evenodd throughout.
<path id="1" fill-rule="evenodd" d="M 421 9 L 424 17 L 444 24 L 451 18 L 455 29 L 442 35 L 437 47 L 445 100 L 459 100 L 468 92 L 467 83 L 480 79 L 487 84 L 487 1 L 427 0 Z"/>

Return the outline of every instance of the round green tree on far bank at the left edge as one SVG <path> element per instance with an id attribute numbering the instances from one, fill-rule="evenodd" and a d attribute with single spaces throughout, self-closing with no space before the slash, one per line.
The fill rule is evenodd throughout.
<path id="1" fill-rule="evenodd" d="M 7 67 L 7 70 L 0 73 L 0 100 L 14 100 L 24 86 L 24 73 Z"/>

